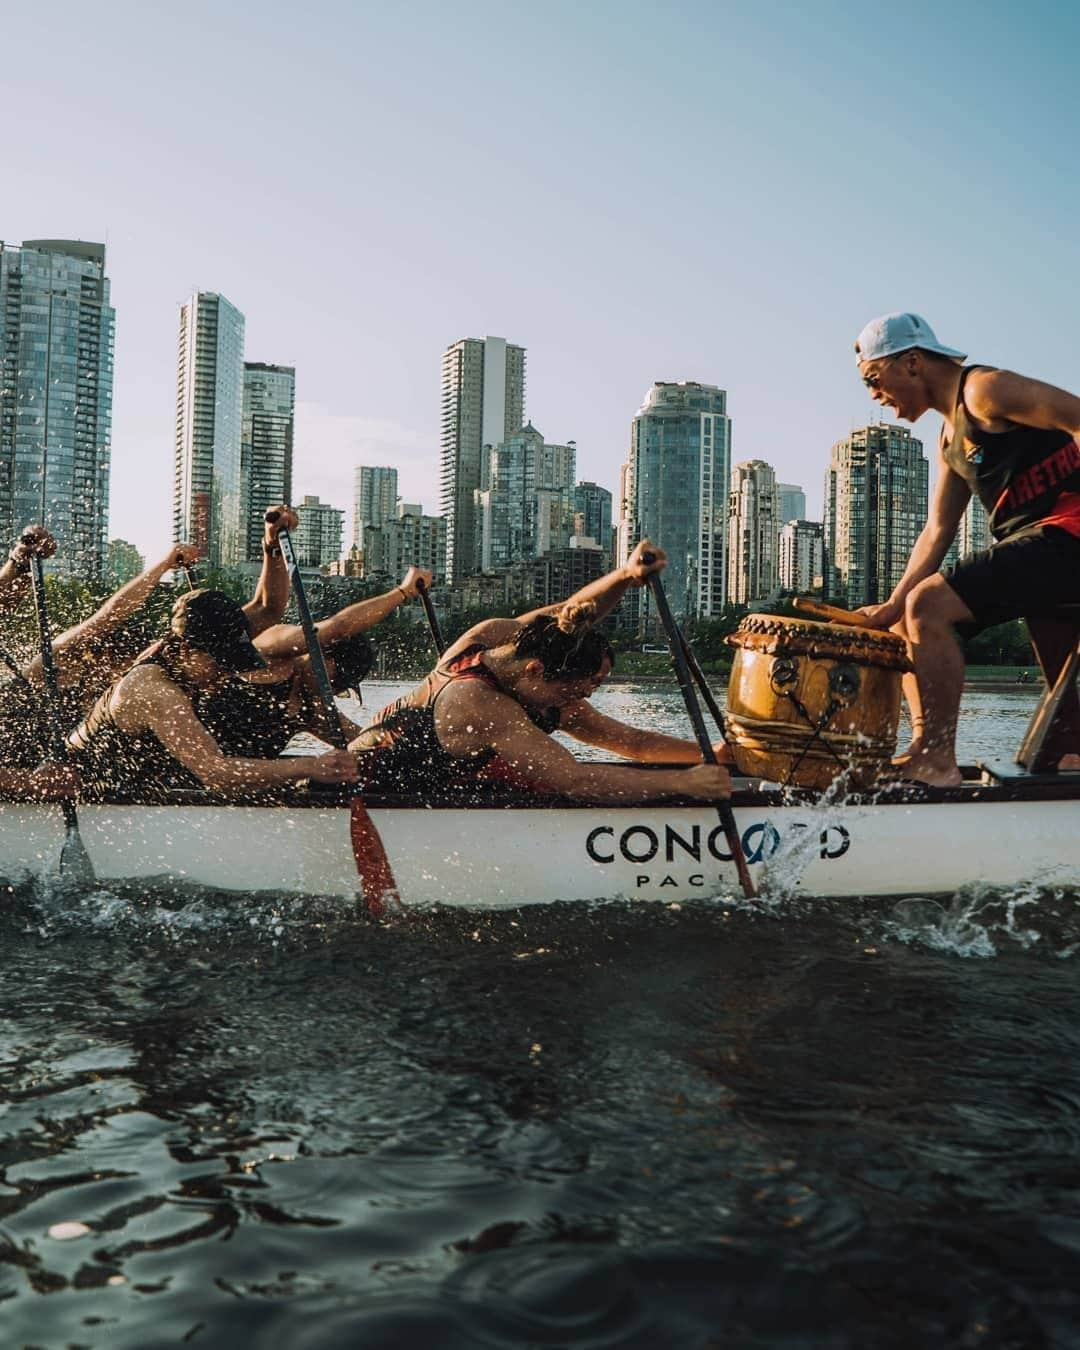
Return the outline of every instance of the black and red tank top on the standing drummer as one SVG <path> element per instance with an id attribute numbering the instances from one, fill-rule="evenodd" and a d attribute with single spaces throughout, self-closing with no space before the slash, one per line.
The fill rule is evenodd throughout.
<path id="1" fill-rule="evenodd" d="M 973 370 L 987 369 L 967 366 L 960 377 L 950 441 L 941 429 L 945 463 L 986 508 L 995 539 L 1040 521 L 1057 522 L 1056 510 L 1080 516 L 1080 447 L 1066 431 L 1014 425 L 990 432 L 972 424 L 964 385 Z"/>

